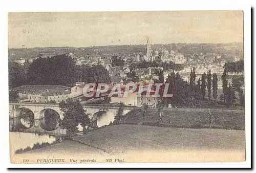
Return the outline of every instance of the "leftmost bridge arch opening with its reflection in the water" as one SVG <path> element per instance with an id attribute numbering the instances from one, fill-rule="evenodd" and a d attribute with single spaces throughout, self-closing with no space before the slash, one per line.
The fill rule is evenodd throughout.
<path id="1" fill-rule="evenodd" d="M 15 110 L 15 117 L 12 118 L 12 122 L 18 129 L 28 129 L 34 125 L 35 115 L 32 110 L 27 107 L 19 107 Z"/>

